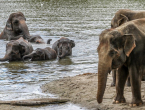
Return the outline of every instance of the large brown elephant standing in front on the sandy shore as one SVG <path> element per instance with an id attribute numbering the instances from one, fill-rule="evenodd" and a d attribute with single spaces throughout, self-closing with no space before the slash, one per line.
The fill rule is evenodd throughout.
<path id="1" fill-rule="evenodd" d="M 108 73 L 112 69 L 117 69 L 114 103 L 126 102 L 124 86 L 129 75 L 132 90 L 130 106 L 142 105 L 141 77 L 145 71 L 145 18 L 103 31 L 99 42 L 98 103 L 103 100 Z"/>

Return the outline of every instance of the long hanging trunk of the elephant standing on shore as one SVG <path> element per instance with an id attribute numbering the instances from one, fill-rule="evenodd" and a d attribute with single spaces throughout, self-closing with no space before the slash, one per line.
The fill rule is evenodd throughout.
<path id="1" fill-rule="evenodd" d="M 100 60 L 98 63 L 98 91 L 97 91 L 97 101 L 101 103 L 103 100 L 103 95 L 106 88 L 107 76 L 111 71 L 112 61 L 106 58 L 106 60 Z"/>

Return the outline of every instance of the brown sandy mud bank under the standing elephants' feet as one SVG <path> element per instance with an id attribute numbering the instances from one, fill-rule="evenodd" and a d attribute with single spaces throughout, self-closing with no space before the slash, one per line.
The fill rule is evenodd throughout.
<path id="1" fill-rule="evenodd" d="M 116 90 L 115 87 L 110 87 L 111 82 L 112 76 L 110 74 L 107 80 L 107 87 L 102 104 L 98 104 L 96 101 L 97 74 L 95 73 L 65 77 L 44 84 L 41 89 L 45 93 L 49 92 L 58 95 L 60 98 L 68 98 L 72 103 L 79 104 L 90 110 L 145 110 L 145 104 L 140 107 L 129 107 L 132 98 L 130 87 L 125 87 L 124 92 L 127 103 L 112 104 Z M 145 81 L 142 81 L 141 86 L 142 99 L 143 102 L 145 102 Z"/>

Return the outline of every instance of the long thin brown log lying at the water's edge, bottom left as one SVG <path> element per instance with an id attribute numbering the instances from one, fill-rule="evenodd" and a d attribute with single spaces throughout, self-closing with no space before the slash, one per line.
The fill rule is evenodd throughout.
<path id="1" fill-rule="evenodd" d="M 0 101 L 0 104 L 20 105 L 20 106 L 34 106 L 43 104 L 59 104 L 66 103 L 68 99 L 61 98 L 42 98 L 42 99 L 28 99 L 28 100 L 14 100 L 14 101 Z"/>

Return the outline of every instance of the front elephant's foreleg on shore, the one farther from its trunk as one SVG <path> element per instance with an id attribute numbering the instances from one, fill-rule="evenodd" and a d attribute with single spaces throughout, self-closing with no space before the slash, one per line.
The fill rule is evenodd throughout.
<path id="1" fill-rule="evenodd" d="M 140 106 L 143 104 L 141 100 L 141 74 L 137 71 L 136 66 L 131 66 L 129 68 L 129 75 L 132 90 L 132 102 L 130 106 Z"/>

